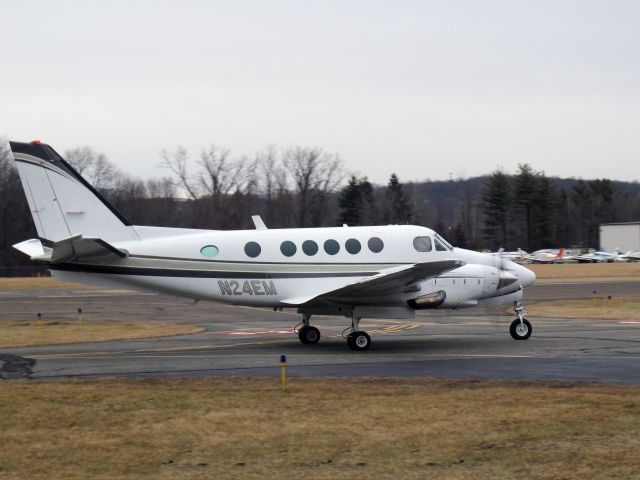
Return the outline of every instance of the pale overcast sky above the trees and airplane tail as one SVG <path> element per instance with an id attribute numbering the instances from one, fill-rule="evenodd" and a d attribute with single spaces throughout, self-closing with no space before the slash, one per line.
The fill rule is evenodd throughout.
<path id="1" fill-rule="evenodd" d="M 0 0 L 0 136 L 158 152 L 272 143 L 384 183 L 640 179 L 640 1 Z"/>

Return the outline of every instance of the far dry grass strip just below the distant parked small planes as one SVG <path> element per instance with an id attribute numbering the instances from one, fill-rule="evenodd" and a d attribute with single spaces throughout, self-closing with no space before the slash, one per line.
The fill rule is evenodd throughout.
<path id="1" fill-rule="evenodd" d="M 537 283 L 640 281 L 640 262 L 525 266 L 535 272 Z"/>

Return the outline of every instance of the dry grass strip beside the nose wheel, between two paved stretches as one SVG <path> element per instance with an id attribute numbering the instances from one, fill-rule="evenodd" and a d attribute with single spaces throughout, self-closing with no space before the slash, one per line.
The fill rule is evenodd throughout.
<path id="1" fill-rule="evenodd" d="M 531 303 L 527 312 L 535 317 L 552 318 L 602 318 L 638 321 L 640 320 L 640 299 L 607 298 L 595 300 L 554 300 Z"/>

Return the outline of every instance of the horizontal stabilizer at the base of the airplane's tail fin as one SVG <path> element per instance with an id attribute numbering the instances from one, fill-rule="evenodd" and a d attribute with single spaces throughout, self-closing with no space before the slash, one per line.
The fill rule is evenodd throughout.
<path id="1" fill-rule="evenodd" d="M 50 263 L 81 262 L 83 260 L 116 260 L 127 254 L 100 238 L 74 235 L 48 246 L 42 246 L 38 239 L 27 240 L 14 245 L 14 248 L 31 256 L 33 260 Z"/>

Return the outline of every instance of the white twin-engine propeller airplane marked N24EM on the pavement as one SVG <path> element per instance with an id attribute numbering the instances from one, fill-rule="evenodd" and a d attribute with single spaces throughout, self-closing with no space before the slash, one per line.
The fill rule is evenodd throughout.
<path id="1" fill-rule="evenodd" d="M 312 315 L 351 319 L 353 350 L 371 338 L 362 318 L 511 304 L 511 336 L 532 332 L 523 288 L 533 272 L 499 256 L 454 248 L 425 227 L 196 230 L 131 225 L 50 146 L 10 142 L 39 238 L 14 245 L 60 280 L 274 310 L 295 308 L 314 344 Z"/>

